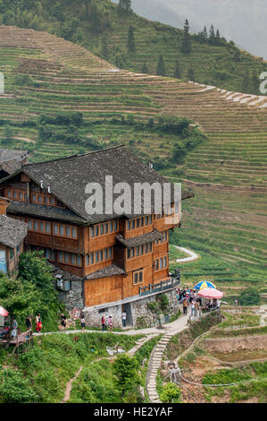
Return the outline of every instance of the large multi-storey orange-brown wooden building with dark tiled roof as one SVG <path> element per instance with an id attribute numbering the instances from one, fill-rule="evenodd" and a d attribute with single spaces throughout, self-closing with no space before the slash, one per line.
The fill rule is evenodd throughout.
<path id="1" fill-rule="evenodd" d="M 170 279 L 169 230 L 180 223 L 178 214 L 164 212 L 89 215 L 86 186 L 104 186 L 105 176 L 113 176 L 113 185 L 167 182 L 123 146 L 28 164 L 0 182 L 0 194 L 12 201 L 8 215 L 28 224 L 26 248 L 44 250 L 61 271 L 83 279 L 86 307 L 138 296 L 140 288 Z"/>

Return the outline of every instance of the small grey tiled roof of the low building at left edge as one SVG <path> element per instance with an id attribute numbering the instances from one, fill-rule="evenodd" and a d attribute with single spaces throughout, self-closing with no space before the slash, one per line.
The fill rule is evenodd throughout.
<path id="1" fill-rule="evenodd" d="M 0 215 L 0 243 L 14 248 L 27 236 L 28 225 L 18 219 Z"/>

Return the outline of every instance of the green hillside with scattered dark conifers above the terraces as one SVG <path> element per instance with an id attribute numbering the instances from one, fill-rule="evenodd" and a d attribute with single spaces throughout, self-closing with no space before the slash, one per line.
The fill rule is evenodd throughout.
<path id="1" fill-rule="evenodd" d="M 132 13 L 129 0 L 120 3 L 1 1 L 0 23 L 47 30 L 120 68 L 259 94 L 259 74 L 266 64 L 221 38 L 220 29 L 192 35 L 190 23 L 178 30 Z"/>

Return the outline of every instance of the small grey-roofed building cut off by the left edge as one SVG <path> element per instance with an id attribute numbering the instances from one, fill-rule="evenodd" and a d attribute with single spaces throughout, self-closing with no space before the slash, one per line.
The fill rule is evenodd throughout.
<path id="1" fill-rule="evenodd" d="M 28 226 L 25 222 L 6 216 L 9 203 L 0 197 L 0 271 L 11 275 L 18 268 Z"/>

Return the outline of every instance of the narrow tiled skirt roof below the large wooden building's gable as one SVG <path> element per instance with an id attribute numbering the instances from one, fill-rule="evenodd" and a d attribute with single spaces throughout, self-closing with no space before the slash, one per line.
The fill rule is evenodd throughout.
<path id="1" fill-rule="evenodd" d="M 54 206 L 45 206 L 32 204 L 28 202 L 13 201 L 7 209 L 8 213 L 32 215 L 45 219 L 59 219 L 75 223 L 87 224 L 87 221 L 79 218 L 69 209 L 56 208 Z"/>

